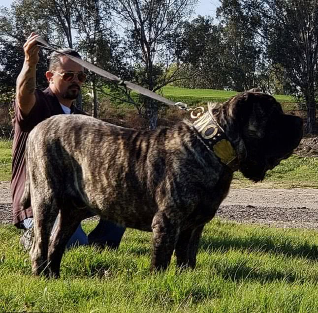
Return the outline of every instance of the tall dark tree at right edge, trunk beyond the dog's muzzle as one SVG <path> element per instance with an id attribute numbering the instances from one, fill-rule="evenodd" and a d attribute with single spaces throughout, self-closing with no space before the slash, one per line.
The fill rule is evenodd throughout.
<path id="1" fill-rule="evenodd" d="M 318 2 L 279 1 L 269 13 L 267 20 L 275 18 L 276 22 L 271 22 L 266 33 L 268 55 L 275 65 L 283 66 L 294 93 L 301 91 L 307 106 L 307 132 L 311 134 L 316 122 Z"/>

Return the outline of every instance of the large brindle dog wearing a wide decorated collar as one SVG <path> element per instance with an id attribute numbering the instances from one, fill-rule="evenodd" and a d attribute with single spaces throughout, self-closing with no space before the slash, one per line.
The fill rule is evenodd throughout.
<path id="1" fill-rule="evenodd" d="M 248 91 L 209 105 L 194 123 L 136 131 L 59 115 L 27 142 L 23 207 L 32 203 L 35 275 L 58 277 L 66 242 L 92 214 L 153 232 L 152 269 L 194 267 L 199 238 L 226 197 L 233 171 L 261 181 L 289 157 L 302 120 L 270 95 Z M 50 238 L 53 224 L 59 225 Z"/>

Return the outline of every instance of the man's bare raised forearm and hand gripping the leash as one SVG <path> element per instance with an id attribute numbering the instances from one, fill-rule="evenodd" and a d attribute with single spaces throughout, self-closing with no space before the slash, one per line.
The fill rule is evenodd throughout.
<path id="1" fill-rule="evenodd" d="M 23 45 L 25 59 L 23 68 L 17 79 L 16 101 L 24 116 L 27 116 L 35 104 L 35 74 L 36 64 L 39 60 L 39 47 L 36 46 L 39 37 L 38 34 L 32 32 L 26 43 Z"/>

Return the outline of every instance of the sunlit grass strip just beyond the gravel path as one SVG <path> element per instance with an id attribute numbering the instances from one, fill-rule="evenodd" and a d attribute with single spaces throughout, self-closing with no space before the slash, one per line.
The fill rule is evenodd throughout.
<path id="1" fill-rule="evenodd" d="M 11 177 L 12 142 L 0 141 L 0 181 Z M 318 158 L 291 156 L 283 160 L 265 180 L 253 183 L 240 172 L 234 174 L 232 188 L 318 188 Z"/>

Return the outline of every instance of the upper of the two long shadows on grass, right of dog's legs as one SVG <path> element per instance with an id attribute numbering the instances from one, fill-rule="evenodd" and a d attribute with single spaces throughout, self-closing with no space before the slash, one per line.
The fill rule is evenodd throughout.
<path id="1" fill-rule="evenodd" d="M 208 252 L 221 251 L 226 252 L 231 249 L 271 252 L 276 255 L 305 257 L 310 260 L 318 259 L 318 245 L 309 243 L 298 243 L 297 246 L 291 241 L 284 240 L 278 242 L 275 237 L 270 236 L 244 236 L 222 237 L 205 235 L 200 240 L 200 249 Z"/>

